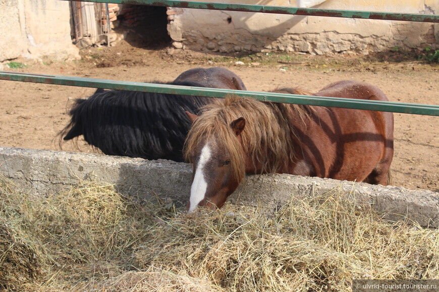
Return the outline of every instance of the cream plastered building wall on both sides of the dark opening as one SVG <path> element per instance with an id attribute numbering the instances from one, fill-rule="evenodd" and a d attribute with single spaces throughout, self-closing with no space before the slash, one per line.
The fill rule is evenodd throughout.
<path id="1" fill-rule="evenodd" d="M 208 0 L 209 1 L 209 0 Z M 437 14 L 439 0 L 224 0 L 228 3 Z M 215 0 L 210 0 L 215 2 Z M 79 58 L 70 37 L 68 1 L 0 0 L 0 62 L 19 56 Z M 281 50 L 310 54 L 439 48 L 439 24 L 168 9 L 177 48 L 236 52 Z"/>

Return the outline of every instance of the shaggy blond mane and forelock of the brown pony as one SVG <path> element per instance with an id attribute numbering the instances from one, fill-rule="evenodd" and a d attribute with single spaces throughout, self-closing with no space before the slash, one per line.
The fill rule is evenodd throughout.
<path id="1" fill-rule="evenodd" d="M 296 89 L 282 88 L 280 93 L 310 95 Z M 184 146 L 186 161 L 203 140 L 225 143 L 231 156 L 233 173 L 238 180 L 245 176 L 245 156 L 261 166 L 261 173 L 273 173 L 288 165 L 294 157 L 292 115 L 303 120 L 309 115 L 307 106 L 260 102 L 252 98 L 229 96 L 201 108 L 201 116 L 193 123 Z M 243 117 L 246 124 L 241 133 L 242 148 L 230 124 Z"/>

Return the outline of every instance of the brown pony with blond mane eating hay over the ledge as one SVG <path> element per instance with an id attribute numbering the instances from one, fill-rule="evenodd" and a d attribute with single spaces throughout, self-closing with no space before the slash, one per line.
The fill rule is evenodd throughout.
<path id="1" fill-rule="evenodd" d="M 279 93 L 312 95 L 283 88 Z M 341 81 L 316 96 L 387 101 L 377 87 Z M 245 174 L 288 173 L 388 184 L 393 113 L 264 103 L 228 97 L 187 113 L 184 154 L 193 164 L 188 210 L 220 208 Z"/>

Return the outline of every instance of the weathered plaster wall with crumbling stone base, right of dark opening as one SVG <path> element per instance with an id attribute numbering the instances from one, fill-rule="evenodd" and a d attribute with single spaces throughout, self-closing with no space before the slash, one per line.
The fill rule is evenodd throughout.
<path id="1" fill-rule="evenodd" d="M 213 2 L 213 1 L 212 1 Z M 355 2 L 346 0 L 225 0 L 227 3 L 434 14 L 438 0 Z M 367 54 L 439 48 L 439 25 L 402 21 L 291 16 L 169 8 L 168 31 L 175 46 L 201 51 L 302 51 L 311 54 Z"/>

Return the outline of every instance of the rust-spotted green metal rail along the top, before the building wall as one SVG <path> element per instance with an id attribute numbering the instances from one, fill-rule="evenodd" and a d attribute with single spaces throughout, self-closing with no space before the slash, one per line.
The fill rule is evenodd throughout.
<path id="1" fill-rule="evenodd" d="M 65 0 L 65 1 L 81 1 L 81 0 Z M 264 6 L 264 5 L 228 4 L 228 3 L 210 3 L 210 2 L 189 2 L 189 1 L 177 1 L 177 0 L 88 0 L 88 2 L 151 5 L 151 6 L 242 11 L 242 12 L 261 12 L 261 13 L 274 13 L 274 14 L 305 15 L 305 16 L 325 16 L 325 17 L 439 23 L 439 15 L 426 15 L 426 14 L 297 8 L 297 7 L 284 7 L 284 6 Z"/>

